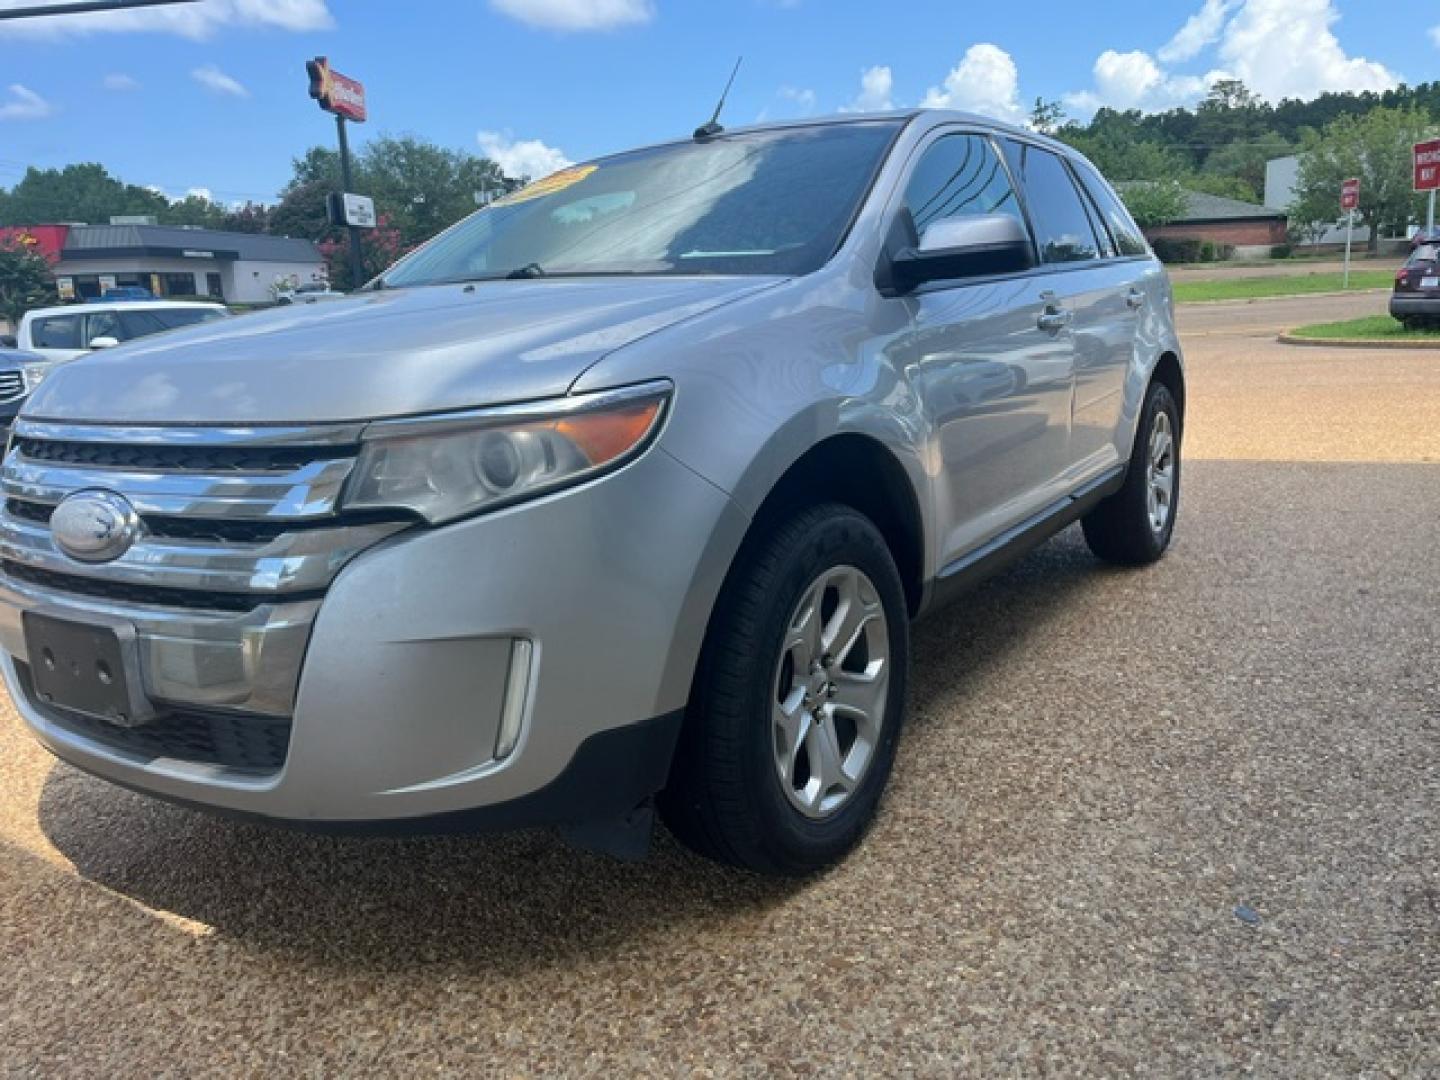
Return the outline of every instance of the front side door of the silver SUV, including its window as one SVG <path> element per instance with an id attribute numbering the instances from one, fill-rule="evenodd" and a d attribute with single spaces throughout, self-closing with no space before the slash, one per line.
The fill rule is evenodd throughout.
<path id="1" fill-rule="evenodd" d="M 916 239 L 946 217 L 1025 222 L 995 143 L 962 130 L 922 147 L 903 210 Z M 942 566 L 1063 494 L 1074 359 L 1050 288 L 1044 275 L 1008 274 L 937 281 L 897 301 L 913 312 L 894 348 L 929 420 Z"/>

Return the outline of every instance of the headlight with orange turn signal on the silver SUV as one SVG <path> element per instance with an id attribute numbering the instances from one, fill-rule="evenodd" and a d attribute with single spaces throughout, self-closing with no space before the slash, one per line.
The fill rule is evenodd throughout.
<path id="1" fill-rule="evenodd" d="M 413 510 L 431 524 L 533 498 L 619 468 L 660 428 L 670 383 L 513 405 L 366 432 L 348 510 Z"/>

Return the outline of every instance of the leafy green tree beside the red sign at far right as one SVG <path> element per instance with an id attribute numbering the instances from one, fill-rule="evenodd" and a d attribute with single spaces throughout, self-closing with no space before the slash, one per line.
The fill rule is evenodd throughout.
<path id="1" fill-rule="evenodd" d="M 1411 147 L 1431 132 L 1430 114 L 1416 107 L 1380 107 L 1310 132 L 1302 148 L 1292 216 L 1299 222 L 1338 222 L 1341 184 L 1358 177 L 1356 217 L 1371 230 L 1371 252 L 1380 249 L 1381 233 L 1407 235 L 1421 212 L 1421 196 L 1413 190 Z"/>

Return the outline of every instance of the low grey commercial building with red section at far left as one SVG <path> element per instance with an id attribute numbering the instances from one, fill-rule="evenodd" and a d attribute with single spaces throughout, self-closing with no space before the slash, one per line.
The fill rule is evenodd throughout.
<path id="1" fill-rule="evenodd" d="M 62 300 L 92 300 L 122 285 L 156 297 L 212 297 L 268 304 L 275 287 L 325 279 L 325 261 L 310 240 L 151 223 L 45 225 L 6 229 L 53 266 Z"/>

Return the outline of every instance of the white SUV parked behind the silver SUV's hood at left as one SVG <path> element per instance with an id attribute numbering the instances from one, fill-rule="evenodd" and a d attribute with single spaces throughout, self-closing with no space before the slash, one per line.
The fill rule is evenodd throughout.
<path id="1" fill-rule="evenodd" d="M 225 318 L 223 304 L 174 300 L 118 300 L 37 308 L 20 320 L 20 348 L 46 360 L 73 360 L 95 348 L 112 348 L 137 337 Z"/>

